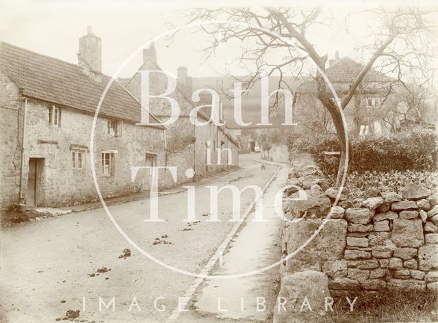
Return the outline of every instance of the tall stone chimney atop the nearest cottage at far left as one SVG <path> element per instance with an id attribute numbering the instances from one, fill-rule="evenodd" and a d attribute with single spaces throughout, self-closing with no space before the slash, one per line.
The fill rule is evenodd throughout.
<path id="1" fill-rule="evenodd" d="M 86 36 L 79 38 L 78 63 L 85 63 L 91 70 L 102 73 L 102 40 L 93 34 L 91 26 L 87 27 Z"/>

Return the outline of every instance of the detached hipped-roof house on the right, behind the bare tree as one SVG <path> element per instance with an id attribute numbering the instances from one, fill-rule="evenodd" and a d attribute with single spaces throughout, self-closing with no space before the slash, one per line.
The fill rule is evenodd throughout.
<path id="1" fill-rule="evenodd" d="M 362 69 L 361 63 L 350 57 L 339 57 L 339 52 L 336 52 L 335 58 L 329 60 L 326 76 L 337 94 L 342 94 L 349 89 Z M 348 131 L 355 135 L 380 135 L 396 131 L 400 128 L 402 119 L 400 110 L 406 105 L 402 92 L 403 89 L 396 79 L 370 69 L 344 109 Z M 294 103 L 300 131 L 334 131 L 329 112 L 316 97 L 314 79 L 305 81 L 298 87 Z"/>

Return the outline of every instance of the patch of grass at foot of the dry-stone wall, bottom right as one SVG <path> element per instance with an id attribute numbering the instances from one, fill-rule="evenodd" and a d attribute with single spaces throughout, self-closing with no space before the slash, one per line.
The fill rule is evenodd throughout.
<path id="1" fill-rule="evenodd" d="M 335 302 L 331 322 L 438 322 L 438 294 L 426 291 L 359 292 L 354 311 L 346 298 Z"/>

